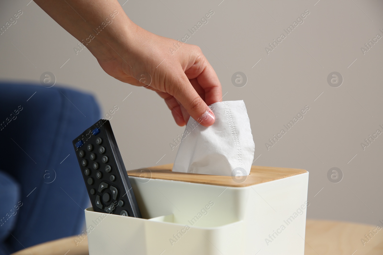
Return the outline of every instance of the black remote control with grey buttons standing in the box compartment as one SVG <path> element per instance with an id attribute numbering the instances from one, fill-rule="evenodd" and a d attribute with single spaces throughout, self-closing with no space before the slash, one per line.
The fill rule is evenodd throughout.
<path id="1" fill-rule="evenodd" d="M 109 120 L 73 140 L 93 211 L 142 218 Z"/>

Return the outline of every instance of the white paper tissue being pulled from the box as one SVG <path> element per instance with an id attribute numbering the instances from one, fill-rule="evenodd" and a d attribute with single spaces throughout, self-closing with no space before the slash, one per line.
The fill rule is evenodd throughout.
<path id="1" fill-rule="evenodd" d="M 216 102 L 210 109 L 216 117 L 210 127 L 190 117 L 172 171 L 249 175 L 255 146 L 244 101 Z"/>

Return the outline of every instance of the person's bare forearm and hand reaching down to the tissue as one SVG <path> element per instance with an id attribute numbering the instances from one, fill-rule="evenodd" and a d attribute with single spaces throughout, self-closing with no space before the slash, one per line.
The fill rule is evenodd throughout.
<path id="1" fill-rule="evenodd" d="M 189 116 L 205 127 L 214 123 L 208 105 L 221 101 L 221 84 L 198 46 L 140 28 L 117 0 L 35 2 L 89 49 L 106 73 L 156 91 L 178 125 Z"/>

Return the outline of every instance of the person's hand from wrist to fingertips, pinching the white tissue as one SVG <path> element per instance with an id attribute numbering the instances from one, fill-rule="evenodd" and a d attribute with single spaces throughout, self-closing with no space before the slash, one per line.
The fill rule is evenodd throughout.
<path id="1" fill-rule="evenodd" d="M 100 58 L 93 54 L 103 70 L 120 81 L 156 91 L 178 125 L 185 125 L 190 116 L 201 125 L 212 125 L 215 117 L 208 105 L 221 100 L 222 90 L 201 49 L 138 26 L 134 31 L 115 54 Z"/>

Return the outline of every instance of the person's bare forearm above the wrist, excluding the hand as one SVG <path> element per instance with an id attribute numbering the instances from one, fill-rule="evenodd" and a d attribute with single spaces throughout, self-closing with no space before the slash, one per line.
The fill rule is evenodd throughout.
<path id="1" fill-rule="evenodd" d="M 137 29 L 117 0 L 35 0 L 95 57 L 108 60 L 128 45 Z"/>

